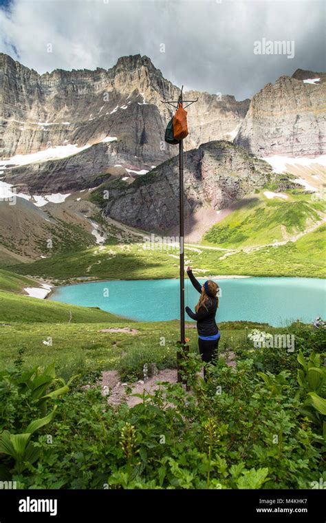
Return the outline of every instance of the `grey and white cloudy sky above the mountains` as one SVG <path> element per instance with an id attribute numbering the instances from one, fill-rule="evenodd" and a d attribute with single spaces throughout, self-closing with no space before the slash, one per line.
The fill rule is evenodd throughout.
<path id="1" fill-rule="evenodd" d="M 175 85 L 242 100 L 298 67 L 325 71 L 325 5 L 318 0 L 0 0 L 0 52 L 39 73 L 109 68 L 119 56 L 146 54 Z M 275 53 L 263 39 L 286 41 L 287 52 Z M 261 52 L 274 54 L 256 54 L 259 45 Z"/>

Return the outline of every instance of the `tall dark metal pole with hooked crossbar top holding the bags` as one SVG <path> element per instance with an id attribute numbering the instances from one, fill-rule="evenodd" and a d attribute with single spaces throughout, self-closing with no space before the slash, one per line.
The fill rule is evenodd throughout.
<path id="1" fill-rule="evenodd" d="M 164 102 L 162 103 L 169 103 L 170 105 L 173 104 L 179 104 L 179 103 L 188 103 L 186 107 L 189 107 L 192 103 L 197 102 L 198 98 L 196 100 L 183 100 L 182 99 L 182 91 L 184 89 L 184 86 L 182 85 L 181 93 L 179 96 L 179 99 L 170 101 L 170 102 Z M 175 107 L 175 105 L 173 105 Z M 176 109 L 177 107 L 175 107 Z M 184 145 L 183 140 L 180 140 L 179 142 L 179 230 L 180 230 L 180 344 L 182 347 L 182 350 L 184 351 L 186 348 L 186 334 L 185 334 L 185 327 L 184 327 Z M 178 354 L 181 356 L 182 354 Z M 179 365 L 179 358 L 177 356 L 177 381 L 178 383 L 182 382 L 182 376 L 180 372 L 180 365 Z"/>

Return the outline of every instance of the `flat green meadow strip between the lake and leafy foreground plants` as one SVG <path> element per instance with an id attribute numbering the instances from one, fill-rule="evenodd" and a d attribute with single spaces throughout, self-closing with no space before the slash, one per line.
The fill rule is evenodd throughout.
<path id="1" fill-rule="evenodd" d="M 155 325 L 155 328 L 153 328 Z M 126 332 L 101 332 L 102 329 L 132 328 L 135 334 Z M 266 324 L 235 321 L 219 323 L 223 339 L 220 352 L 235 349 L 246 343 L 248 328 L 263 328 L 268 332 L 281 332 L 282 329 Z M 246 329 L 246 327 L 248 327 Z M 68 378 L 76 372 L 118 369 L 124 374 L 138 373 L 142 376 L 142 365 L 155 361 L 159 367 L 175 367 L 175 343 L 179 339 L 179 323 L 165 322 L 123 322 L 120 319 L 107 323 L 23 323 L 0 325 L 0 369 L 11 365 L 17 358 L 17 351 L 24 348 L 26 366 L 56 363 L 58 374 Z M 160 345 L 160 337 L 165 337 L 165 346 Z M 186 328 L 190 338 L 191 351 L 197 352 L 197 331 Z M 48 338 L 52 345 L 43 343 Z"/>

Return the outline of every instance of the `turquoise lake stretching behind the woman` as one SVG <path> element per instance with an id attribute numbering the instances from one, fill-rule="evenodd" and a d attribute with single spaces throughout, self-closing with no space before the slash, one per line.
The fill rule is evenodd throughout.
<path id="1" fill-rule="evenodd" d="M 298 318 L 308 323 L 317 316 L 326 316 L 325 279 L 250 277 L 215 281 L 221 288 L 217 323 L 248 320 L 281 326 Z M 198 297 L 187 279 L 186 305 L 193 309 Z M 58 287 L 50 299 L 100 307 L 140 321 L 180 318 L 178 279 L 98 281 Z M 191 321 L 187 315 L 186 320 Z"/>

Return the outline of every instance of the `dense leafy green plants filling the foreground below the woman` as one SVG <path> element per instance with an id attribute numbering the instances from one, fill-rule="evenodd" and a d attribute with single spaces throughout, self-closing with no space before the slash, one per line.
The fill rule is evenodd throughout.
<path id="1" fill-rule="evenodd" d="M 48 326 L 42 327 L 47 332 Z M 78 325 L 65 326 L 65 347 L 70 343 L 73 352 L 76 331 L 69 334 L 69 327 Z M 124 334 L 124 353 L 117 354 L 120 346 L 116 358 L 131 355 L 122 375 L 133 378 L 133 370 L 137 373 L 144 361 L 150 362 L 155 348 L 160 348 L 163 366 L 171 361 L 172 332 L 166 323 L 158 327 L 157 335 L 161 328 L 167 334 L 165 347 L 158 337 L 151 342 L 148 337 L 146 350 L 141 346 L 145 332 L 140 337 Z M 108 402 L 96 365 L 92 376 L 87 366 L 69 381 L 66 372 L 63 381 L 53 364 L 43 366 L 44 349 L 36 338 L 23 351 L 26 325 L 12 328 L 17 332 L 10 354 L 14 361 L 0 372 L 1 481 L 16 481 L 18 489 L 312 489 L 320 488 L 320 478 L 325 480 L 326 380 L 323 354 L 316 354 L 325 343 L 323 329 L 290 325 L 296 348 L 288 352 L 254 350 L 243 325 L 223 325 L 224 346 L 217 365 L 208 366 L 207 383 L 198 376 L 198 354 L 191 352 L 185 367 L 190 393 L 181 384 L 164 383 L 129 408 L 124 402 Z M 153 323 L 150 328 L 153 332 Z M 176 330 L 177 323 L 171 328 Z M 47 357 L 54 356 L 54 347 L 48 348 Z M 141 348 L 138 359 L 136 347 Z M 221 356 L 231 348 L 235 367 Z M 84 350 L 93 362 L 98 348 Z M 107 352 L 114 350 L 112 346 Z M 30 370 L 28 351 L 34 353 Z"/>

